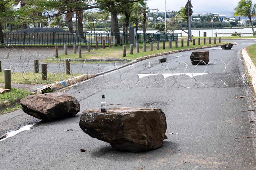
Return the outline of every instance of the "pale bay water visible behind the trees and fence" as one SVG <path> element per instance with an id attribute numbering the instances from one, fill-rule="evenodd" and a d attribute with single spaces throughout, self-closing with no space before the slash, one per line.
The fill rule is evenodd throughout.
<path id="1" fill-rule="evenodd" d="M 187 31 L 187 30 L 185 30 Z M 200 31 L 200 37 L 203 37 L 204 32 L 206 32 L 207 37 L 215 37 L 214 33 L 221 33 L 220 29 L 213 29 L 213 35 L 212 35 L 212 30 L 192 30 L 192 34 L 194 37 L 199 37 L 199 31 Z M 243 29 L 222 29 L 222 33 L 252 33 L 251 28 L 243 28 Z M 120 31 L 122 32 L 122 31 Z M 104 33 L 104 31 L 96 31 L 96 33 Z M 138 33 L 143 33 L 142 30 L 139 30 Z M 157 33 L 157 30 L 148 30 L 147 33 Z M 187 36 L 185 32 L 182 30 L 176 30 L 174 33 L 182 33 L 182 36 Z M 230 35 L 222 35 L 222 37 L 230 37 Z M 252 36 L 252 35 L 241 35 L 241 37 L 244 36 Z M 218 35 L 220 37 L 220 35 Z"/>

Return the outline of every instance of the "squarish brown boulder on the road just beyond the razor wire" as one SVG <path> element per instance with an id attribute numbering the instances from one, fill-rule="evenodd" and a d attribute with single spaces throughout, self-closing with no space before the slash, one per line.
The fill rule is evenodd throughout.
<path id="1" fill-rule="evenodd" d="M 194 51 L 190 55 L 193 65 L 205 65 L 209 63 L 209 51 Z"/>

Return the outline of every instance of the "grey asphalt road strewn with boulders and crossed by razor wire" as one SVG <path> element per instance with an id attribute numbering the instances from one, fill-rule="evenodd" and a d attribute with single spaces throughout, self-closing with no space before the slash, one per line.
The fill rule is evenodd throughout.
<path id="1" fill-rule="evenodd" d="M 256 169 L 255 138 L 236 139 L 256 134 L 255 111 L 242 112 L 255 109 L 255 101 L 240 60 L 240 50 L 255 41 L 235 42 L 231 50 L 206 49 L 207 67 L 192 66 L 187 51 L 167 55 L 168 66 L 156 57 L 73 86 L 65 92 L 81 105 L 73 118 L 44 123 L 21 110 L 1 116 L 0 134 L 36 123 L 0 141 L 1 169 Z M 81 113 L 99 108 L 102 94 L 108 107 L 162 109 L 168 137 L 162 147 L 120 152 L 85 134 Z"/>

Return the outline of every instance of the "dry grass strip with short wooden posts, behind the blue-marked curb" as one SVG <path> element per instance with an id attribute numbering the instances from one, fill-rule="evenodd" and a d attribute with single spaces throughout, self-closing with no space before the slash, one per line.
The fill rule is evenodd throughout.
<path id="1" fill-rule="evenodd" d="M 61 80 L 67 80 L 81 74 L 70 74 L 65 73 L 48 73 L 48 80 L 42 80 L 41 73 L 26 72 L 22 74 L 20 72 L 13 72 L 11 74 L 12 83 L 15 84 L 50 84 Z M 4 73 L 0 72 L 0 83 L 4 83 Z"/>

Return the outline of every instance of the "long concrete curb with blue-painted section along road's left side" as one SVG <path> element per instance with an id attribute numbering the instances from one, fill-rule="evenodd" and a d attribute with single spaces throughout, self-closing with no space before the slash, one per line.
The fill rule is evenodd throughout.
<path id="1" fill-rule="evenodd" d="M 221 45 L 222 44 L 209 45 L 209 46 L 201 46 L 201 47 L 188 48 L 188 49 L 180 49 L 180 50 L 162 52 L 162 53 L 157 53 L 157 54 L 152 54 L 152 55 L 136 58 L 132 62 L 129 62 L 127 64 L 124 64 L 124 65 L 122 65 L 120 67 L 117 67 L 117 68 L 114 68 L 114 69 L 111 69 L 111 70 L 107 70 L 107 71 L 96 73 L 96 74 L 84 74 L 84 75 L 80 75 L 80 76 L 74 77 L 72 79 L 68 79 L 68 80 L 59 81 L 59 82 L 56 82 L 56 83 L 53 83 L 53 84 L 48 84 L 48 85 L 40 86 L 40 87 L 35 89 L 35 91 L 36 91 L 35 93 L 36 94 L 42 94 L 44 91 L 50 90 L 50 89 L 55 91 L 55 90 L 61 89 L 63 87 L 67 87 L 67 86 L 73 85 L 75 83 L 84 81 L 86 79 L 93 78 L 93 77 L 96 77 L 96 76 L 99 76 L 99 75 L 103 75 L 103 74 L 106 74 L 106 73 L 109 73 L 109 72 L 112 72 L 112 71 L 115 71 L 115 70 L 127 67 L 127 66 L 129 66 L 131 64 L 134 64 L 136 62 L 143 61 L 143 60 L 146 60 L 146 59 L 149 59 L 149 58 L 158 57 L 158 56 L 162 56 L 162 55 L 173 54 L 173 53 L 177 53 L 177 52 L 183 52 L 183 51 L 191 51 L 191 50 L 196 50 L 196 49 L 217 47 L 217 46 L 221 46 Z"/>

